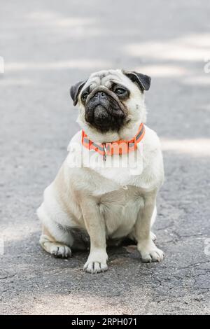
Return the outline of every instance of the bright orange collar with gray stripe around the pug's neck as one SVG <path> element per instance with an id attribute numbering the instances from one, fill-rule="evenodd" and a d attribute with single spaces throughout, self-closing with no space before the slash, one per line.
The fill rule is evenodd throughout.
<path id="1" fill-rule="evenodd" d="M 106 155 L 114 155 L 114 154 L 121 155 L 136 150 L 137 144 L 139 143 L 139 141 L 141 141 L 141 139 L 143 139 L 144 134 L 145 134 L 145 127 L 144 124 L 141 123 L 136 136 L 130 141 L 125 141 L 123 139 L 120 139 L 119 141 L 112 141 L 110 143 L 100 144 L 100 143 L 94 143 L 94 141 L 90 141 L 90 139 L 87 138 L 87 135 L 83 130 L 82 144 L 83 146 L 85 146 L 85 148 L 88 148 L 89 150 L 94 150 L 102 154 L 104 156 L 104 160 L 106 160 Z"/>

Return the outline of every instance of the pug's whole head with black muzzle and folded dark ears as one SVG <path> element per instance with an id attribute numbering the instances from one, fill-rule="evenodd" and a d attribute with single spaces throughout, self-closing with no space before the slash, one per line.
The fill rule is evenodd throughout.
<path id="1" fill-rule="evenodd" d="M 92 73 L 70 93 L 79 104 L 79 123 L 98 132 L 118 132 L 131 120 L 144 121 L 144 90 L 151 78 L 137 72 L 108 70 Z"/>

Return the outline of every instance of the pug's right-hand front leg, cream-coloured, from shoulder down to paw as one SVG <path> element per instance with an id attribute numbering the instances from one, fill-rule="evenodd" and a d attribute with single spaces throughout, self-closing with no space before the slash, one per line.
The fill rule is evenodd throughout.
<path id="1" fill-rule="evenodd" d="M 151 235 L 151 220 L 155 209 L 156 193 L 146 195 L 144 207 L 139 211 L 135 225 L 135 236 L 137 237 L 137 248 L 144 262 L 160 262 L 164 258 L 162 250 L 158 249 Z"/>

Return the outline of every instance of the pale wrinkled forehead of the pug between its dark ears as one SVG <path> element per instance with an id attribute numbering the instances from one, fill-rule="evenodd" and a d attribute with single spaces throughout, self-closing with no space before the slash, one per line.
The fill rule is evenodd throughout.
<path id="1" fill-rule="evenodd" d="M 99 71 L 90 75 L 90 78 L 87 79 L 84 88 L 88 85 L 90 87 L 90 92 L 94 90 L 95 87 L 99 87 L 99 85 L 111 88 L 111 83 L 123 83 L 125 78 L 126 77 L 120 70 Z"/>

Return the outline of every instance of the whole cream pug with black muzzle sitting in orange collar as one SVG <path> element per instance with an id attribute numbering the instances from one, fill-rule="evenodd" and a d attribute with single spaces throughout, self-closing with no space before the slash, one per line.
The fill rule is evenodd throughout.
<path id="1" fill-rule="evenodd" d="M 71 87 L 81 130 L 37 214 L 44 250 L 69 258 L 71 250 L 89 249 L 86 272 L 106 271 L 107 244 L 128 238 L 144 262 L 164 258 L 151 232 L 164 167 L 158 136 L 145 125 L 150 85 L 149 76 L 117 69 L 92 73 Z"/>

